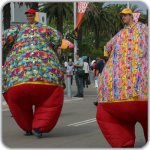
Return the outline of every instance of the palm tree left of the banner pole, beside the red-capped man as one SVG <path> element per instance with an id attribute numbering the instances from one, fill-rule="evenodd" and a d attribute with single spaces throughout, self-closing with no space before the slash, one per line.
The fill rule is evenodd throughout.
<path id="1" fill-rule="evenodd" d="M 63 34 L 63 22 L 73 19 L 73 3 L 71 2 L 45 2 L 40 11 L 47 13 L 49 23 L 54 19 L 57 30 Z"/>

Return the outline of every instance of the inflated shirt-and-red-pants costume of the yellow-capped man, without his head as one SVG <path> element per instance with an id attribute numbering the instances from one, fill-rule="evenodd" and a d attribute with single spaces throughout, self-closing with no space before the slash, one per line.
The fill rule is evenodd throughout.
<path id="1" fill-rule="evenodd" d="M 105 50 L 110 57 L 99 78 L 97 122 L 112 147 L 134 147 L 136 122 L 148 138 L 148 27 L 126 26 Z"/>

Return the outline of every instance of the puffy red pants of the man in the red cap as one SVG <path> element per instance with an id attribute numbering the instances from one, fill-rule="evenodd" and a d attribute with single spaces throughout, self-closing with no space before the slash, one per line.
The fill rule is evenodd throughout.
<path id="1" fill-rule="evenodd" d="M 20 128 L 50 132 L 60 116 L 64 90 L 57 85 L 22 84 L 11 87 L 3 96 Z"/>

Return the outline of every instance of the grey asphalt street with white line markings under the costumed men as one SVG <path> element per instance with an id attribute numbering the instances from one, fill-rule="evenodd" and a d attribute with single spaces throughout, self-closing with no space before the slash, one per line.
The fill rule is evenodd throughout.
<path id="1" fill-rule="evenodd" d="M 2 142 L 9 148 L 111 148 L 105 140 L 97 122 L 94 81 L 84 88 L 84 97 L 75 98 L 76 84 L 71 87 L 72 98 L 67 97 L 64 90 L 64 105 L 60 118 L 50 133 L 44 133 L 41 139 L 35 135 L 24 136 L 18 127 L 9 108 L 2 100 Z M 19 113 L 19 112 L 18 112 Z M 135 148 L 143 147 L 146 142 L 143 129 L 139 123 L 135 126 Z"/>

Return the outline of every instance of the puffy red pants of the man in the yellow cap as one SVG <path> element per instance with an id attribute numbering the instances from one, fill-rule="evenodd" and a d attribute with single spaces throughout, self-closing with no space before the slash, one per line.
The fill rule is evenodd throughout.
<path id="1" fill-rule="evenodd" d="M 96 119 L 113 148 L 134 147 L 137 122 L 142 125 L 148 140 L 148 101 L 99 103 Z"/>

